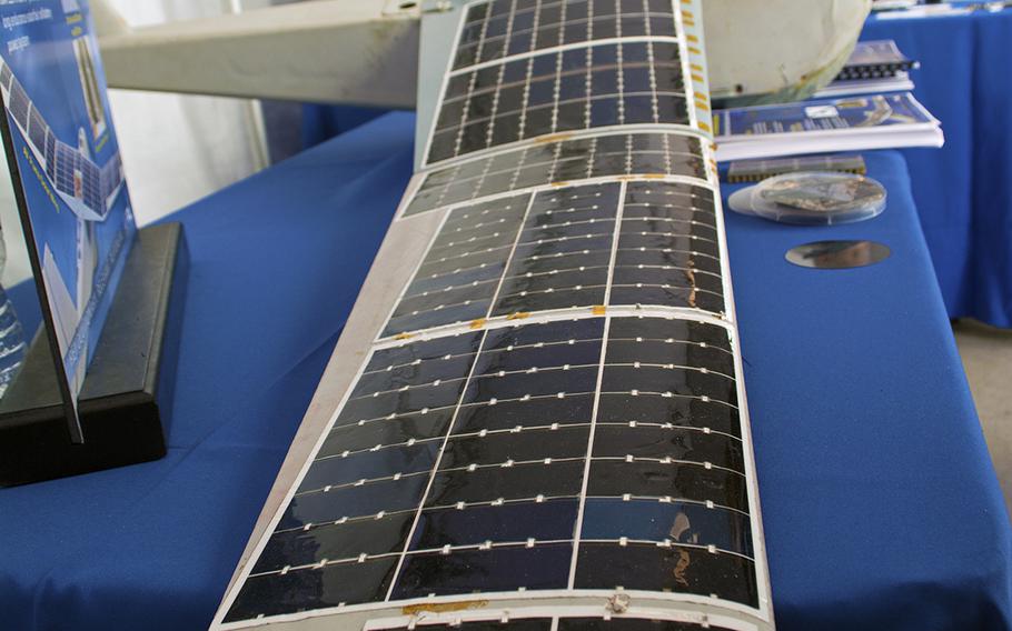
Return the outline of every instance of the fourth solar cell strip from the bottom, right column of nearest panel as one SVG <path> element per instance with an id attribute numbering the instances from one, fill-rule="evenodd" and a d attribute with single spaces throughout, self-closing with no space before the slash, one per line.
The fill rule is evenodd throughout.
<path id="1" fill-rule="evenodd" d="M 744 474 L 742 441 L 720 432 L 662 424 L 597 423 L 594 433 L 595 458 L 664 459 L 712 462 Z"/>

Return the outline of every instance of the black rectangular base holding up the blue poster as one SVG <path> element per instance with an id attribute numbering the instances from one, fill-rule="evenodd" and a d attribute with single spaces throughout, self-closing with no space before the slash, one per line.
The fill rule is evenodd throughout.
<path id="1" fill-rule="evenodd" d="M 70 441 L 47 337 L 36 335 L 0 400 L 0 485 L 165 455 L 186 268 L 181 224 L 138 231 L 81 388 L 81 444 Z"/>

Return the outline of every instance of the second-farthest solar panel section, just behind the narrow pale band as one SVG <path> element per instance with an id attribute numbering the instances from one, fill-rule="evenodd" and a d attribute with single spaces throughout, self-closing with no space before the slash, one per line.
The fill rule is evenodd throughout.
<path id="1" fill-rule="evenodd" d="M 653 46 L 653 63 L 647 41 Z M 448 77 L 427 140 L 427 163 L 565 131 L 632 124 L 692 130 L 684 64 L 676 46 L 656 39 L 584 44 L 536 56 L 533 62 L 515 60 Z M 665 53 L 658 57 L 661 47 Z M 589 98 L 588 66 L 595 86 Z M 494 99 L 500 106 L 492 117 Z M 655 111 L 661 116 L 655 118 Z"/>

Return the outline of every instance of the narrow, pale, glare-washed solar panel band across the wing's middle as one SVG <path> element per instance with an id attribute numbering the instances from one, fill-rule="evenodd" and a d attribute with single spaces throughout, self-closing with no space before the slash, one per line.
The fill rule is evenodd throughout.
<path id="1" fill-rule="evenodd" d="M 673 136 L 682 144 L 675 151 Z M 616 140 L 625 140 L 621 151 L 612 148 Z M 598 147 L 602 141 L 607 150 Z M 675 157 L 677 168 L 672 163 Z M 398 219 L 525 188 L 602 177 L 695 178 L 712 183 L 716 178 L 711 158 L 710 148 L 697 137 L 668 133 L 619 133 L 528 146 L 424 173 L 405 194 Z"/>

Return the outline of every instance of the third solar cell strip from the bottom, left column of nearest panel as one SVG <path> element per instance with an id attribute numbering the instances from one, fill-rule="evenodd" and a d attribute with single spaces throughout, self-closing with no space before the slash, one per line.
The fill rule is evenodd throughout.
<path id="1" fill-rule="evenodd" d="M 337 521 L 341 518 L 375 515 L 418 507 L 428 475 L 408 475 L 347 485 L 330 491 L 297 494 L 285 509 L 278 530 L 304 528 L 306 524 Z"/>

